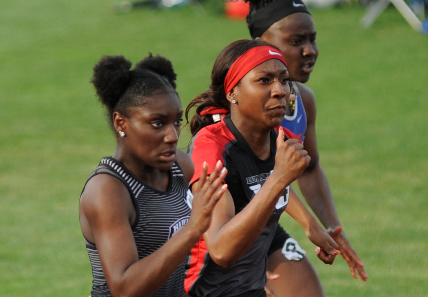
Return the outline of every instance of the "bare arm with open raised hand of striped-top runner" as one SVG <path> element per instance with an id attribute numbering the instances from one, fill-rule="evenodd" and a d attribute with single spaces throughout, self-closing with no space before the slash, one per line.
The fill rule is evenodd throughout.
<path id="1" fill-rule="evenodd" d="M 166 282 L 211 222 L 212 210 L 227 188 L 222 186 L 226 171 L 220 174 L 221 168 L 220 163 L 211 180 L 196 189 L 189 222 L 140 261 L 131 230 L 135 210 L 128 190 L 106 174 L 89 180 L 80 198 L 80 222 L 85 237 L 97 246 L 113 296 L 152 296 Z"/>

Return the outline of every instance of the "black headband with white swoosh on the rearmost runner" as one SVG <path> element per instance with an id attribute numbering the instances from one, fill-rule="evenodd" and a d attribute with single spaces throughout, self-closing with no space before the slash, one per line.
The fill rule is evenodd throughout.
<path id="1" fill-rule="evenodd" d="M 248 24 L 251 37 L 254 39 L 262 36 L 272 24 L 296 12 L 309 13 L 302 0 L 274 0 L 268 6 L 257 10 L 251 17 L 250 24 Z"/>

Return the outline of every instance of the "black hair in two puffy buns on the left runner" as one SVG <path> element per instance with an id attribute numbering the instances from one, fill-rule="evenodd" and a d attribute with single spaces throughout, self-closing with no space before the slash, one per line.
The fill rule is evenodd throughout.
<path id="1" fill-rule="evenodd" d="M 131 65 L 123 56 L 104 56 L 94 66 L 91 82 L 112 128 L 115 111 L 129 117 L 130 108 L 146 105 L 155 95 L 176 92 L 177 75 L 170 60 L 149 53 L 133 70 Z"/>

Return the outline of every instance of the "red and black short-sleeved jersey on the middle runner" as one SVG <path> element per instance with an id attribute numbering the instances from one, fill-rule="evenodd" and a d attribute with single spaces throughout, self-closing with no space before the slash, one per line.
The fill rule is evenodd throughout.
<path id="1" fill-rule="evenodd" d="M 290 135 L 289 133 L 287 133 Z M 291 133 L 292 134 L 292 133 Z M 193 138 L 189 153 L 195 164 L 191 183 L 201 176 L 202 163 L 208 163 L 208 174 L 218 160 L 228 173 L 225 183 L 232 194 L 235 213 L 239 213 L 256 195 L 275 164 L 275 130 L 270 134 L 269 159 L 259 159 L 232 123 L 230 114 L 218 123 L 201 129 Z M 230 269 L 214 263 L 203 238 L 192 249 L 186 265 L 184 290 L 190 296 L 266 296 L 267 252 L 275 234 L 279 216 L 288 203 L 289 186 L 279 198 L 276 209 L 253 246 Z"/>

